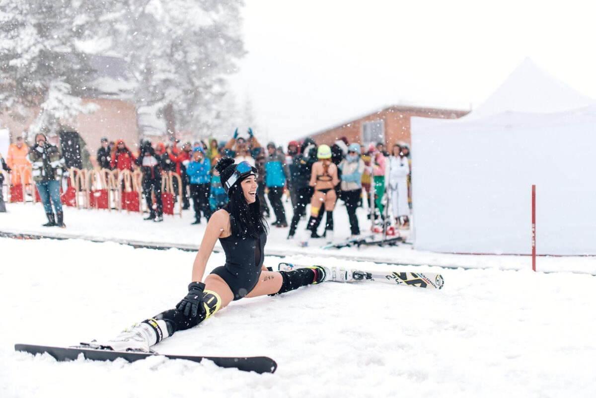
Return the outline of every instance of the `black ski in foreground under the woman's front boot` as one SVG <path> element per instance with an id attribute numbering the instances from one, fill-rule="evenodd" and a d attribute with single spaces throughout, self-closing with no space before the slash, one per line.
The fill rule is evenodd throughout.
<path id="1" fill-rule="evenodd" d="M 27 352 L 33 355 L 48 353 L 59 362 L 68 360 L 75 360 L 79 355 L 83 355 L 85 359 L 91 360 L 116 360 L 119 358 L 125 359 L 128 362 L 145 359 L 150 356 L 164 356 L 169 359 L 186 359 L 193 362 L 201 362 L 203 359 L 211 360 L 215 365 L 222 368 L 237 368 L 246 372 L 257 373 L 273 373 L 277 369 L 277 363 L 266 356 L 252 356 L 252 357 L 226 357 L 226 356 L 189 356 L 189 355 L 167 355 L 159 353 L 144 353 L 144 352 L 119 352 L 108 349 L 94 349 L 93 346 L 81 345 L 72 347 L 48 347 L 35 346 L 32 344 L 15 344 L 15 351 Z"/>

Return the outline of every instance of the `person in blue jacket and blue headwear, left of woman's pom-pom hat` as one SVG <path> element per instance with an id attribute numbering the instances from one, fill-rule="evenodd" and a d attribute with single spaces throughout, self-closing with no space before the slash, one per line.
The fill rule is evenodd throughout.
<path id="1" fill-rule="evenodd" d="M 190 195 L 194 205 L 194 222 L 201 223 L 201 212 L 209 221 L 212 211 L 209 206 L 209 193 L 211 188 L 210 161 L 205 156 L 201 145 L 193 149 L 193 155 L 187 166 L 187 175 L 190 178 Z"/>

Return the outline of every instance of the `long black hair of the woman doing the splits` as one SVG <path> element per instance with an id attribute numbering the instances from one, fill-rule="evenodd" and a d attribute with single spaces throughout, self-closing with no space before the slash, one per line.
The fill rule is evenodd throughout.
<path id="1" fill-rule="evenodd" d="M 267 233 L 268 226 L 260 211 L 259 195 L 256 195 L 254 203 L 249 204 L 240 184 L 230 188 L 228 195 L 229 201 L 224 209 L 229 213 L 232 235 L 243 239 L 257 239 L 263 232 Z"/>

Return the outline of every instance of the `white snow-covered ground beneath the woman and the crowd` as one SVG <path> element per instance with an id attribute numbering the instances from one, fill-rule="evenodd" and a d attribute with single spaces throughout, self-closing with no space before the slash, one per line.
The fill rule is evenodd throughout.
<path id="1" fill-rule="evenodd" d="M 43 228 L 38 204 L 10 204 L 0 231 L 54 232 L 198 244 L 191 213 L 144 222 L 138 214 L 66 209 L 66 229 Z M 339 208 L 338 236 L 347 235 Z M 69 345 L 108 338 L 171 308 L 186 293 L 192 251 L 114 242 L 0 238 L 1 397 L 594 397 L 595 276 L 532 272 L 517 256 L 452 256 L 395 248 L 308 250 L 272 229 L 280 260 L 364 270 L 440 272 L 442 290 L 328 282 L 233 302 L 154 348 L 162 353 L 266 355 L 275 374 L 153 357 L 132 364 L 14 352 L 15 343 Z M 436 263 L 470 268 L 383 265 Z M 224 262 L 212 254 L 208 269 Z M 539 269 L 594 272 L 591 257 L 540 257 Z"/>

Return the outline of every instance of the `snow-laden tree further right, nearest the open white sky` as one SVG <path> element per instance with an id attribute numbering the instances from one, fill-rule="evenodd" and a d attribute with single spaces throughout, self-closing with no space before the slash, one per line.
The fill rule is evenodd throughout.
<path id="1" fill-rule="evenodd" d="M 139 80 L 139 106 L 159 105 L 167 132 L 213 132 L 245 53 L 238 0 L 125 0 L 114 4 L 114 49 Z"/>

